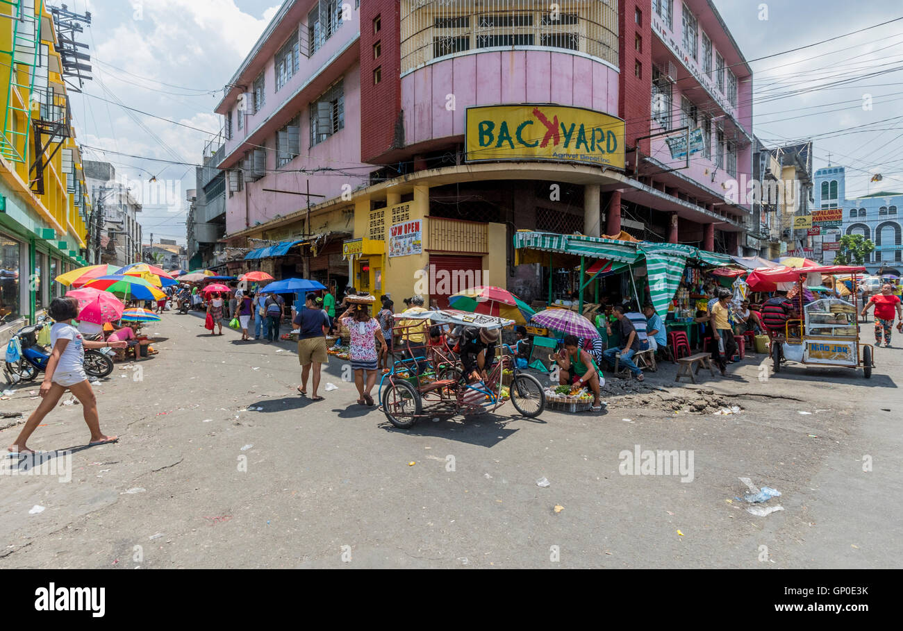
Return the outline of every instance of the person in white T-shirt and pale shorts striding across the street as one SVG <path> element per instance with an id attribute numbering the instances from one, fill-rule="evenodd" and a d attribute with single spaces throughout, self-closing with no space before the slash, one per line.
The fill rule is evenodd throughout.
<path id="1" fill-rule="evenodd" d="M 85 422 L 91 431 L 88 446 L 118 441 L 117 436 L 107 436 L 100 431 L 98 401 L 94 397 L 94 391 L 88 383 L 88 376 L 85 375 L 82 365 L 85 361 L 85 348 L 126 348 L 126 342 L 92 342 L 82 339 L 79 329 L 72 326 L 72 320 L 79 315 L 79 303 L 74 298 L 54 298 L 47 311 L 51 318 L 56 320 L 56 324 L 51 328 L 51 357 L 47 360 L 47 370 L 44 372 L 44 381 L 38 393 L 41 394 L 43 401 L 28 417 L 18 438 L 7 450 L 13 453 L 34 453 L 25 442 L 67 390 L 78 397 L 85 411 Z"/>

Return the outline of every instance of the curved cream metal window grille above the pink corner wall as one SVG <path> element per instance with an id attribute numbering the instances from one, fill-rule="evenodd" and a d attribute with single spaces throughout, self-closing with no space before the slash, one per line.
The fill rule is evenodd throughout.
<path id="1" fill-rule="evenodd" d="M 580 51 L 618 66 L 617 0 L 402 0 L 401 73 L 498 48 Z"/>

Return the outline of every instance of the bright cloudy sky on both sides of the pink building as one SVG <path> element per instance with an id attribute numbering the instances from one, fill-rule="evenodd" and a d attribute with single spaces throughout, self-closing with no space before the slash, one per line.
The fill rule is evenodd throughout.
<path id="1" fill-rule="evenodd" d="M 747 60 L 903 16 L 898 0 L 713 1 Z M 212 109 L 222 97 L 223 85 L 279 4 L 278 0 L 66 0 L 71 11 L 92 14 L 81 41 L 90 47 L 95 80 L 85 85 L 84 95 L 75 94 L 71 101 L 79 143 L 107 153 L 86 149 L 86 159 L 112 162 L 117 176 L 137 182 L 138 190 L 140 181 L 154 175 L 175 198 L 172 208 L 144 200 L 145 241 L 154 233 L 154 240 L 185 242 L 185 191 L 194 188 L 194 169 L 129 156 L 197 163 L 210 136 L 128 112 L 116 102 L 217 132 L 221 121 Z M 848 197 L 866 193 L 869 174 L 877 172 L 884 181 L 871 184 L 870 191 L 903 190 L 901 25 L 892 23 L 751 61 L 756 135 L 768 146 L 813 139 L 816 168 L 827 165 L 829 154 L 833 164 L 848 167 Z"/>

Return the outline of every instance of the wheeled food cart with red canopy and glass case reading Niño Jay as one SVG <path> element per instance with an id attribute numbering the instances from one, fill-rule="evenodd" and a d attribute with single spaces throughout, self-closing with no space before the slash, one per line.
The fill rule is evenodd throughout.
<path id="1" fill-rule="evenodd" d="M 815 282 L 809 274 L 852 274 L 856 286 L 857 274 L 864 272 L 864 267 L 849 265 L 759 268 L 749 274 L 747 283 L 760 292 L 776 291 L 777 283 L 796 283 L 802 297 L 806 279 Z M 855 292 L 849 300 L 852 302 L 839 297 L 809 302 L 803 306 L 801 318 L 787 320 L 784 331 L 771 339 L 775 373 L 780 371 L 781 361 L 787 360 L 804 366 L 861 367 L 868 379 L 874 366 L 874 349 L 859 340 L 860 308 Z"/>

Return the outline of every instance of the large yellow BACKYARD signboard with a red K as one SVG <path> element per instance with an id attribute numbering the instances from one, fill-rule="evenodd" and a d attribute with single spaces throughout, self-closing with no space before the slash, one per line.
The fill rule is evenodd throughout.
<path id="1" fill-rule="evenodd" d="M 582 107 L 467 108 L 467 162 L 544 160 L 624 168 L 624 121 Z"/>

